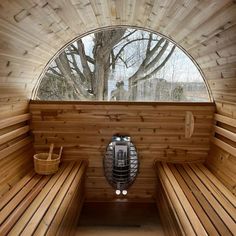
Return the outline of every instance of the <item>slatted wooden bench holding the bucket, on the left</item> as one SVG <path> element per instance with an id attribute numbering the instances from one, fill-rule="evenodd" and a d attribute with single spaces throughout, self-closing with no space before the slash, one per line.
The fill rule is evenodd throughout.
<path id="1" fill-rule="evenodd" d="M 0 199 L 0 235 L 70 235 L 84 200 L 86 162 L 28 173 Z"/>

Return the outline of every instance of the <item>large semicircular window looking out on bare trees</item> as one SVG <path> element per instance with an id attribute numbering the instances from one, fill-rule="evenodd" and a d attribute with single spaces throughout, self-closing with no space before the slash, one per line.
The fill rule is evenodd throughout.
<path id="1" fill-rule="evenodd" d="M 45 69 L 36 99 L 210 101 L 201 73 L 180 48 L 133 28 L 77 38 Z"/>

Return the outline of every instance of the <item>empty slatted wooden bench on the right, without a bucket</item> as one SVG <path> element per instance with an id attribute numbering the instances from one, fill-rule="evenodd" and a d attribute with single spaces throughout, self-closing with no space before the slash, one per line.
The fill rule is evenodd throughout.
<path id="1" fill-rule="evenodd" d="M 155 163 L 167 235 L 235 235 L 236 197 L 203 164 Z"/>

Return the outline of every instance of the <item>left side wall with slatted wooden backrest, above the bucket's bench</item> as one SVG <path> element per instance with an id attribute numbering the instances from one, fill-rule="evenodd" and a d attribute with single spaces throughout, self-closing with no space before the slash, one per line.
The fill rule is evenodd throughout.
<path id="1" fill-rule="evenodd" d="M 32 169 L 28 101 L 0 100 L 0 197 Z"/>

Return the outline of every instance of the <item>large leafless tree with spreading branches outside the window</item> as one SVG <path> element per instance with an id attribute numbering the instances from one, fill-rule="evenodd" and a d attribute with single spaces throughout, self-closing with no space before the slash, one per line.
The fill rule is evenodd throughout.
<path id="1" fill-rule="evenodd" d="M 118 28 L 94 33 L 92 52 L 86 51 L 86 43 L 78 39 L 69 45 L 50 65 L 45 78 L 58 78 L 58 84 L 51 93 L 54 97 L 62 94 L 56 89 L 64 89 L 64 95 L 72 100 L 107 100 L 108 78 L 117 64 L 123 64 L 126 68 L 133 67 L 135 72 L 128 78 L 129 93 L 135 100 L 137 84 L 140 81 L 153 77 L 167 63 L 175 50 L 175 45 L 152 33 L 139 33 L 135 29 Z M 138 50 L 127 56 L 127 51 L 137 42 L 145 42 L 142 49 L 142 61 L 134 66 L 138 58 Z M 39 92 L 43 96 L 46 86 L 41 83 Z M 42 87 L 42 88 L 41 88 Z M 58 88 L 60 87 L 60 88 Z M 63 88 L 61 88 L 63 87 Z M 68 90 L 68 92 L 66 91 Z M 67 93 L 67 94 L 66 94 Z"/>

